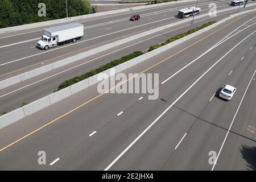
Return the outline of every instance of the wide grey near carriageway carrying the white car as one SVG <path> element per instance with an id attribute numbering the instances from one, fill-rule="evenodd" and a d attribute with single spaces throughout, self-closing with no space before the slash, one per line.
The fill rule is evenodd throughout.
<path id="1" fill-rule="evenodd" d="M 159 73 L 156 100 L 95 85 L 1 129 L 0 169 L 255 169 L 255 20 L 233 18 L 123 72 Z M 224 84 L 237 88 L 231 101 L 218 98 Z"/>

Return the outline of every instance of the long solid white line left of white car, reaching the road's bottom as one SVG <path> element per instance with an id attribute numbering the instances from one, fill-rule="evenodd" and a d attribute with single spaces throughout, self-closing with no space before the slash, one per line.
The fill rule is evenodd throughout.
<path id="1" fill-rule="evenodd" d="M 255 32 L 255 31 L 254 31 Z M 251 33 L 250 35 L 252 35 L 252 34 L 254 34 L 254 32 L 253 33 Z M 245 39 L 247 39 L 250 35 L 248 35 Z M 243 39 L 243 40 L 245 40 L 245 39 Z M 241 40 L 241 42 L 240 43 L 242 43 L 243 42 L 243 40 Z M 202 77 L 204 77 L 216 64 L 218 64 L 226 55 L 228 55 L 228 53 L 229 52 L 231 52 L 234 48 L 236 48 L 240 43 L 238 43 L 236 46 L 234 46 L 232 49 L 230 49 L 224 56 L 222 56 L 221 57 L 221 59 L 219 59 L 216 63 L 214 63 L 213 65 L 212 65 L 212 67 L 210 67 L 206 72 L 204 72 L 204 74 L 203 75 L 201 75 L 199 78 L 197 78 L 197 80 L 195 81 L 195 82 L 193 82 L 193 84 L 191 85 L 191 86 L 189 86 L 189 88 L 187 89 L 187 90 L 185 90 L 185 92 L 183 92 L 174 102 L 172 102 L 172 104 L 170 105 L 170 106 L 168 106 L 167 107 L 167 109 L 166 110 L 164 110 L 163 111 L 163 113 L 162 114 L 160 114 L 137 138 L 135 138 L 134 140 L 133 140 L 133 142 L 131 142 L 130 144 L 129 144 L 129 146 L 127 146 L 126 148 L 125 148 L 125 150 L 123 150 L 122 152 L 121 152 L 121 154 L 119 154 L 118 156 L 117 156 L 117 158 L 115 158 L 114 160 L 113 160 L 113 162 L 112 163 L 110 163 L 109 164 L 109 166 L 108 167 L 106 167 L 105 169 L 104 169 L 104 171 L 108 171 L 109 170 L 109 168 L 110 167 L 112 167 L 116 162 L 117 162 L 117 160 L 118 159 L 120 159 L 125 153 L 126 153 L 126 151 L 128 151 L 133 145 L 134 145 L 134 143 L 136 143 L 164 114 L 166 114 L 166 112 L 169 110 L 169 109 L 171 109 L 171 107 L 172 106 L 174 106 L 175 104 L 176 104 L 176 102 L 177 101 L 179 101 L 180 100 L 180 98 L 181 97 L 183 97 L 184 96 L 184 94 L 186 94 L 197 82 L 199 82 L 199 80 L 201 80 L 201 78 Z"/>

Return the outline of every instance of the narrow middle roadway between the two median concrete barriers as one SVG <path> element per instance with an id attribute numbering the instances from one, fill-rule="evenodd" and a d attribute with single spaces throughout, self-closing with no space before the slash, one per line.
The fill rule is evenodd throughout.
<path id="1" fill-rule="evenodd" d="M 211 20 L 223 19 L 236 12 L 237 10 L 232 10 L 217 14 L 216 17 L 207 16 L 205 18 L 195 19 L 195 27 L 199 27 L 201 24 L 207 23 Z M 64 82 L 69 78 L 82 75 L 83 73 L 94 68 L 98 68 L 112 60 L 119 59 L 122 56 L 128 55 L 133 51 L 146 51 L 147 48 L 151 45 L 162 43 L 166 39 L 176 34 L 188 31 L 189 28 L 190 23 L 183 23 L 179 26 L 174 26 L 161 32 L 156 32 L 155 34 L 123 44 L 122 46 L 109 49 L 107 51 L 98 53 L 97 55 L 89 56 L 86 59 L 82 59 L 76 63 L 61 67 L 55 71 L 44 73 L 40 76 L 20 82 L 19 84 L 15 84 L 6 89 L 2 89 L 0 90 L 0 102 L 5 104 L 0 105 L 0 112 L 13 110 L 19 107 L 23 102 L 32 102 L 38 100 L 39 98 L 51 94 L 54 90 L 57 89 L 57 86 L 59 86 L 61 82 Z M 44 64 L 39 65 L 42 66 Z"/>

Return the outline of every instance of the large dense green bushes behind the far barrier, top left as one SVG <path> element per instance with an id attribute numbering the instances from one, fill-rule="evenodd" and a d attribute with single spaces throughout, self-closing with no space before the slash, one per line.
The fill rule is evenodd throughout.
<path id="1" fill-rule="evenodd" d="M 38 4 L 46 4 L 46 17 L 38 16 Z M 68 0 L 68 16 L 92 13 L 90 3 L 85 0 Z M 42 22 L 66 17 L 65 0 L 0 0 L 0 28 Z"/>

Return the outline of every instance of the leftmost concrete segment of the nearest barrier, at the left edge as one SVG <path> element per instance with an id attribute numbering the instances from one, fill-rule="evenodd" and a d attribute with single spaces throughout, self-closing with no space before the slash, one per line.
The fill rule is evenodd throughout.
<path id="1" fill-rule="evenodd" d="M 24 117 L 25 114 L 22 107 L 20 107 L 19 109 L 15 109 L 5 115 L 2 115 L 0 117 L 0 129 L 8 125 L 11 125 L 16 121 L 19 121 L 20 119 L 23 119 Z"/>

